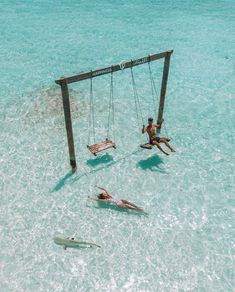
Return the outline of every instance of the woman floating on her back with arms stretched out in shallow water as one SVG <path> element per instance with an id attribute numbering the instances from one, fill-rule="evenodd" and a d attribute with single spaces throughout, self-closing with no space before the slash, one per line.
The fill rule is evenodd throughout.
<path id="1" fill-rule="evenodd" d="M 95 200 L 97 202 L 110 202 L 113 203 L 114 205 L 116 205 L 119 208 L 122 209 L 129 209 L 129 210 L 133 210 L 133 211 L 139 211 L 139 212 L 144 212 L 144 210 L 138 206 L 136 206 L 135 204 L 127 201 L 127 200 L 121 200 L 118 198 L 113 197 L 106 189 L 96 186 L 98 189 L 102 190 L 103 192 L 100 193 L 97 198 L 91 198 L 88 196 L 89 199 Z"/>

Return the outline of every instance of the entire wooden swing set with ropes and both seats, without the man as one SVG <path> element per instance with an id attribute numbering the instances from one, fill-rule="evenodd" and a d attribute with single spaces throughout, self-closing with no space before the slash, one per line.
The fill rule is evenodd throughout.
<path id="1" fill-rule="evenodd" d="M 173 53 L 173 50 L 169 50 L 169 51 L 157 53 L 154 55 L 149 55 L 147 57 L 143 57 L 140 59 L 122 62 L 120 64 L 112 65 L 110 67 L 105 67 L 105 68 L 98 69 L 95 71 L 80 73 L 78 75 L 74 75 L 74 76 L 70 76 L 70 77 L 61 77 L 60 79 L 55 81 L 61 87 L 64 117 L 65 117 L 65 126 L 66 126 L 67 141 L 68 141 L 68 148 L 69 148 L 69 158 L 70 158 L 70 165 L 72 167 L 72 171 L 76 171 L 77 165 L 76 165 L 76 156 L 75 156 L 75 148 L 74 148 L 73 128 L 72 128 L 72 118 L 71 118 L 71 110 L 70 110 L 68 84 L 74 83 L 74 82 L 79 82 L 79 81 L 86 80 L 86 79 L 90 79 L 89 137 L 88 137 L 87 148 L 89 149 L 89 151 L 93 155 L 96 156 L 99 152 L 108 150 L 110 148 L 114 148 L 114 149 L 116 148 L 115 142 L 110 139 L 110 127 L 111 127 L 111 125 L 114 125 L 113 73 L 120 71 L 120 70 L 125 70 L 125 69 L 130 68 L 137 121 L 139 123 L 139 115 L 141 115 L 142 122 L 143 122 L 143 115 L 142 115 L 140 100 L 139 100 L 137 87 L 136 87 L 136 83 L 135 83 L 133 67 L 139 66 L 139 65 L 142 65 L 145 63 L 148 64 L 149 76 L 150 76 L 150 82 L 151 82 L 152 99 L 153 99 L 153 104 L 155 105 L 157 91 L 156 91 L 156 86 L 155 86 L 150 62 L 164 59 L 162 81 L 161 81 L 161 90 L 160 90 L 160 100 L 159 100 L 159 107 L 158 107 L 158 117 L 157 117 L 157 123 L 159 125 L 161 125 L 161 121 L 163 118 L 167 80 L 168 80 L 168 74 L 169 74 L 170 57 L 171 57 L 172 53 Z M 105 74 L 110 74 L 110 76 L 111 76 L 111 78 L 110 78 L 110 96 L 109 96 L 109 114 L 108 114 L 107 138 L 104 141 L 101 141 L 99 143 L 94 143 L 95 117 L 94 117 L 93 78 L 101 76 L 101 75 L 105 75 Z M 160 131 L 160 129 L 159 129 L 159 131 Z M 113 137 L 115 137 L 114 134 L 115 133 L 114 133 L 114 127 L 113 127 Z M 93 136 L 93 144 L 91 144 L 91 136 Z M 145 143 L 143 145 L 140 145 L 140 147 L 142 147 L 144 149 L 152 149 L 152 145 L 149 143 Z"/>

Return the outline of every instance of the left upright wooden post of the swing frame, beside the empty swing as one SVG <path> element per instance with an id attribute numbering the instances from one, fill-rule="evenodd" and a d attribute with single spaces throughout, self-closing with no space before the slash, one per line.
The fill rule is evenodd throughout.
<path id="1" fill-rule="evenodd" d="M 71 111 L 70 111 L 70 102 L 69 102 L 69 90 L 66 80 L 61 79 L 60 82 L 61 93 L 63 99 L 63 108 L 64 108 L 64 118 L 65 118 L 65 126 L 67 132 L 68 146 L 69 146 L 69 158 L 70 164 L 73 171 L 76 171 L 76 157 L 74 150 L 74 141 L 73 141 L 73 127 L 72 127 L 72 119 L 71 119 Z"/>

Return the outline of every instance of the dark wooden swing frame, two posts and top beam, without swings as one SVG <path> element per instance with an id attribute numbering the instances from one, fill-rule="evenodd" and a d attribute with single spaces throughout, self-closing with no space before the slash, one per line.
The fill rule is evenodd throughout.
<path id="1" fill-rule="evenodd" d="M 69 159 L 70 159 L 70 165 L 72 167 L 72 171 L 76 171 L 77 164 L 76 164 L 76 155 L 75 155 L 75 148 L 74 148 L 73 127 L 72 127 L 72 117 L 71 117 L 71 110 L 70 110 L 68 84 L 79 82 L 86 79 L 95 78 L 95 77 L 105 75 L 105 74 L 111 74 L 120 70 L 125 70 L 128 68 L 132 68 L 135 66 L 139 66 L 145 63 L 149 63 L 149 62 L 164 58 L 164 66 L 163 66 L 162 82 L 161 82 L 161 90 L 160 90 L 160 101 L 159 101 L 158 118 L 157 118 L 157 123 L 161 124 L 163 111 L 164 111 L 167 80 L 168 80 L 169 67 L 170 67 L 170 58 L 171 58 L 172 53 L 173 53 L 173 50 L 168 50 L 168 51 L 161 52 L 158 54 L 149 55 L 147 57 L 143 57 L 140 59 L 124 61 L 124 62 L 121 62 L 120 64 L 112 65 L 112 66 L 98 69 L 95 71 L 80 73 L 80 74 L 73 75 L 70 77 L 61 77 L 60 79 L 55 80 L 55 83 L 59 84 L 61 87 L 65 126 L 66 126 L 67 141 L 68 141 L 68 148 L 69 148 Z"/>

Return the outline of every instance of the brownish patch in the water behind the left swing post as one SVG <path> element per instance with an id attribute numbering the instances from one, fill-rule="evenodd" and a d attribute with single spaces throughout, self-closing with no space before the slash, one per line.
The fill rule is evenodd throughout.
<path id="1" fill-rule="evenodd" d="M 80 91 L 71 89 L 69 93 L 73 119 L 79 118 L 86 112 L 87 104 L 81 100 Z M 59 86 L 40 88 L 19 96 L 4 111 L 5 121 L 22 121 L 24 125 L 37 125 L 49 119 L 64 126 L 63 102 Z"/>

